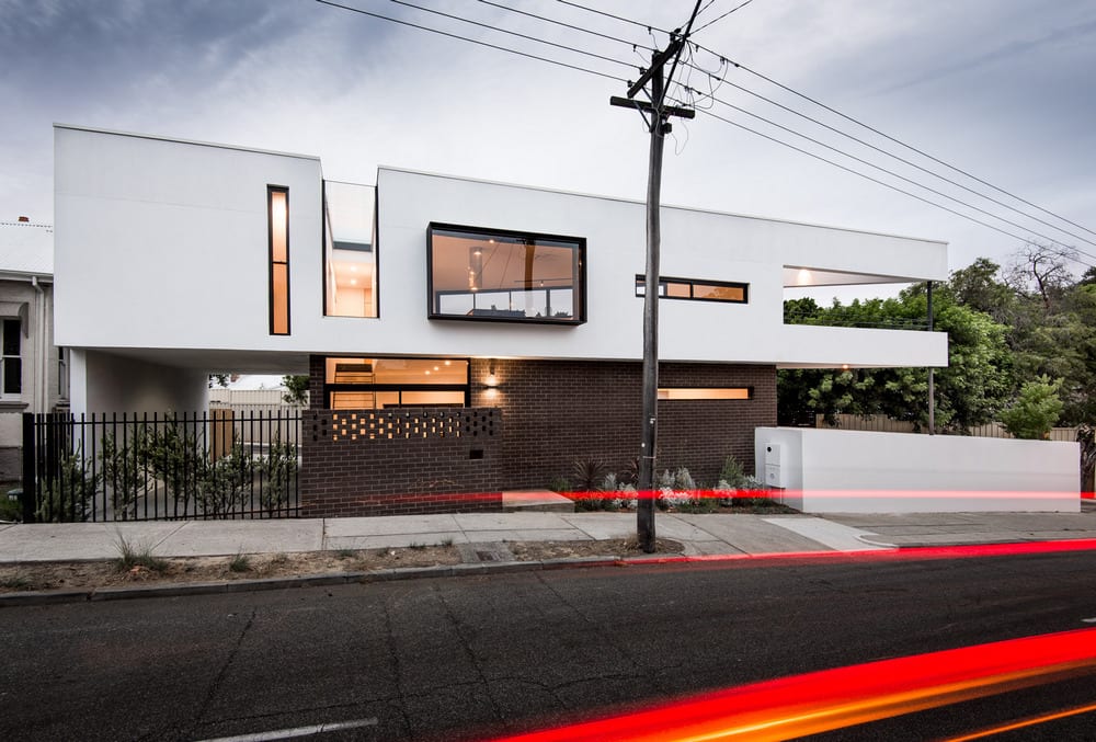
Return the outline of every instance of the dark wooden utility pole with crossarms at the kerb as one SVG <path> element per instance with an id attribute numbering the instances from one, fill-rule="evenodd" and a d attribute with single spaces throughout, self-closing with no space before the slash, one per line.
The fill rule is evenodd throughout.
<path id="1" fill-rule="evenodd" d="M 658 445 L 658 409 L 659 409 L 659 251 L 662 243 L 661 227 L 661 194 L 662 194 L 662 150 L 665 135 L 671 132 L 667 122 L 670 116 L 693 118 L 696 113 L 692 109 L 680 109 L 665 104 L 667 80 L 663 75 L 666 62 L 673 59 L 669 78 L 673 78 L 677 57 L 689 28 L 700 8 L 697 0 L 693 8 L 693 16 L 684 34 L 676 31 L 671 35 L 670 44 L 663 52 L 655 52 L 651 57 L 651 67 L 644 70 L 639 80 L 628 89 L 628 98 L 613 96 L 612 105 L 637 109 L 650 116 L 648 125 L 651 132 L 650 159 L 647 180 L 647 276 L 643 284 L 643 424 L 642 441 L 639 448 L 639 499 L 636 512 L 636 535 L 639 547 L 647 553 L 654 551 L 654 454 Z M 651 102 L 632 100 L 636 93 L 651 83 Z"/>

